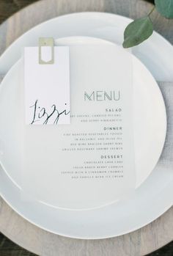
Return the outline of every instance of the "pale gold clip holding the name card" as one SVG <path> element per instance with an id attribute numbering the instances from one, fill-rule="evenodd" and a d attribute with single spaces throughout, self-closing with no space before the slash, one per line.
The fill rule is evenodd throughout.
<path id="1" fill-rule="evenodd" d="M 54 38 L 39 38 L 39 64 L 54 64 Z"/>

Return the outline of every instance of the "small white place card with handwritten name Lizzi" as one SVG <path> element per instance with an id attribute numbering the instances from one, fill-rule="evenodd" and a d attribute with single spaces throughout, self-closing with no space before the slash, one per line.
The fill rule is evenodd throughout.
<path id="1" fill-rule="evenodd" d="M 24 48 L 24 91 L 26 125 L 70 124 L 69 48 L 43 46 L 45 65 L 39 63 L 39 48 Z"/>

